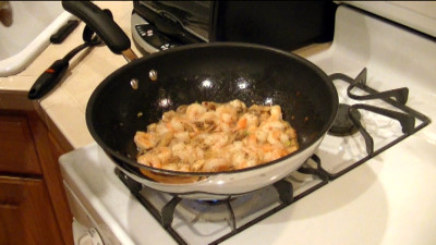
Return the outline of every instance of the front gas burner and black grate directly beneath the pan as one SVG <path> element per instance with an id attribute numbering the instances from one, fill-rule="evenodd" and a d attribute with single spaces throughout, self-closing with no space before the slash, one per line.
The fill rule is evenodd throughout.
<path id="1" fill-rule="evenodd" d="M 141 185 L 118 168 L 114 172 L 179 244 L 221 243 L 328 183 L 316 155 L 272 185 L 218 201 L 161 193 Z M 209 241 L 204 241 L 204 234 Z"/>

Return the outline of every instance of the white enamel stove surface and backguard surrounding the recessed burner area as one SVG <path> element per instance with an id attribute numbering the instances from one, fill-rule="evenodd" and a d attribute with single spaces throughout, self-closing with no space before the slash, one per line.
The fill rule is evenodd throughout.
<path id="1" fill-rule="evenodd" d="M 377 90 L 407 86 L 408 106 L 436 119 L 434 40 L 341 7 L 334 45 L 308 59 L 327 74 L 353 77 L 366 66 L 370 86 Z M 122 244 L 174 244 L 100 158 L 105 156 L 93 144 L 60 160 L 69 186 L 77 196 L 86 196 L 84 206 L 97 210 L 106 222 L 99 232 L 111 230 Z M 433 245 L 435 186 L 436 126 L 431 123 L 222 244 Z"/>

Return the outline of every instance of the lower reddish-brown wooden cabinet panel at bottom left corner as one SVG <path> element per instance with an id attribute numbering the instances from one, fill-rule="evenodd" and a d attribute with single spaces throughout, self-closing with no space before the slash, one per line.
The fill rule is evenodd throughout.
<path id="1" fill-rule="evenodd" d="M 63 244 L 41 180 L 0 176 L 0 244 Z"/>

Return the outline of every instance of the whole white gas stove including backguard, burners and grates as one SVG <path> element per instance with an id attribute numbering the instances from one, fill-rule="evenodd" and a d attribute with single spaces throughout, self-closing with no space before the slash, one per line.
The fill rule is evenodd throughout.
<path id="1" fill-rule="evenodd" d="M 341 109 L 301 169 L 198 201 L 135 183 L 92 144 L 60 159 L 77 244 L 434 244 L 434 37 L 340 5 L 331 46 L 305 58 Z"/>

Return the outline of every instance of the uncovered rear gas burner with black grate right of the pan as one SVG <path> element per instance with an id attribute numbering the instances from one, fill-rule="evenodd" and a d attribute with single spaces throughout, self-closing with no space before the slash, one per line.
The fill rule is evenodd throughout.
<path id="1" fill-rule="evenodd" d="M 351 171 L 416 131 L 429 119 L 405 106 L 409 89 L 377 91 L 367 86 L 367 71 L 355 77 L 329 75 L 343 100 L 337 121 L 316 154 L 330 180 Z M 359 131 L 359 134 L 355 134 Z"/>

